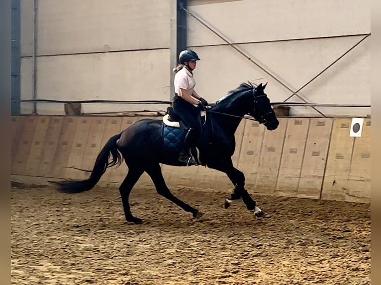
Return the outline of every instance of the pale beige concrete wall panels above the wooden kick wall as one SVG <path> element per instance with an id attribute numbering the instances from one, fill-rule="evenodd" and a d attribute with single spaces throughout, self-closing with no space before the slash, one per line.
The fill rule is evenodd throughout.
<path id="1" fill-rule="evenodd" d="M 33 1 L 21 0 L 21 98 L 32 98 Z M 39 0 L 37 98 L 168 100 L 170 1 Z M 190 0 L 189 10 L 296 90 L 370 32 L 370 0 Z M 349 36 L 353 35 L 353 36 Z M 333 38 L 322 38 L 333 37 Z M 308 38 L 308 39 L 306 39 Z M 290 92 L 188 16 L 188 45 L 201 57 L 196 90 L 213 102 L 263 78 L 272 101 Z M 370 104 L 370 38 L 300 91 L 308 102 Z M 299 102 L 297 97 L 291 101 Z M 164 110 L 163 105 L 84 105 L 84 111 Z M 23 104 L 23 113 L 31 111 Z M 363 116 L 368 108 L 321 108 Z M 38 104 L 40 114 L 63 106 Z M 298 116 L 311 108 L 292 108 Z"/>

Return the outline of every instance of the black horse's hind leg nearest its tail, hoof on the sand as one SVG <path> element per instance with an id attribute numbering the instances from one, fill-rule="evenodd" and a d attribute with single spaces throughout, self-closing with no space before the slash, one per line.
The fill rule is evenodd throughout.
<path id="1" fill-rule="evenodd" d="M 124 215 L 127 221 L 132 221 L 136 224 L 140 224 L 143 221 L 135 217 L 131 214 L 130 204 L 129 204 L 129 196 L 131 193 L 132 188 L 136 184 L 136 182 L 139 180 L 140 176 L 143 174 L 144 170 L 139 168 L 132 168 L 130 167 L 128 169 L 128 173 L 126 178 L 123 180 L 122 184 L 119 187 L 120 196 L 122 198 L 122 204 L 123 204 L 123 210 Z"/>

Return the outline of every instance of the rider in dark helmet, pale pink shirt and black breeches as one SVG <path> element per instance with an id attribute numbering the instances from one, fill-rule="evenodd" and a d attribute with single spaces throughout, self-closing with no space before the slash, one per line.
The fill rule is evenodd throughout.
<path id="1" fill-rule="evenodd" d="M 189 150 L 191 146 L 194 146 L 197 136 L 201 134 L 201 126 L 198 119 L 199 109 L 205 110 L 205 107 L 208 105 L 208 102 L 201 98 L 194 90 L 196 82 L 192 71 L 196 68 L 196 61 L 199 60 L 194 51 L 184 50 L 179 55 L 180 64 L 173 69 L 176 74 L 174 80 L 175 97 L 172 107 L 189 128 L 179 156 L 179 161 L 186 163 L 187 166 L 197 164 Z M 193 104 L 197 105 L 198 108 Z"/>

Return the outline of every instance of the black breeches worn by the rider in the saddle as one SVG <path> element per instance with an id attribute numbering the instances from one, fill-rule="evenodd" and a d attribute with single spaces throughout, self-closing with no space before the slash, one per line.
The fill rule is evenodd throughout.
<path id="1" fill-rule="evenodd" d="M 172 107 L 176 114 L 183 119 L 187 127 L 193 129 L 194 136 L 198 137 L 201 134 L 200 110 L 177 95 L 175 95 Z"/>

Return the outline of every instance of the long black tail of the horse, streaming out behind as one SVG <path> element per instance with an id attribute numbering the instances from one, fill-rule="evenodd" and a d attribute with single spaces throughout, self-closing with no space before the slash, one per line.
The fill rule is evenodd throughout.
<path id="1" fill-rule="evenodd" d="M 106 172 L 108 167 L 116 165 L 119 167 L 123 162 L 123 157 L 117 149 L 116 142 L 120 139 L 121 133 L 111 137 L 108 142 L 100 150 L 96 157 L 93 171 L 90 177 L 86 180 L 80 181 L 49 181 L 58 185 L 58 190 L 65 193 L 79 193 L 91 190 L 96 183 L 98 183 L 100 177 Z M 110 155 L 112 159 L 109 160 Z"/>

